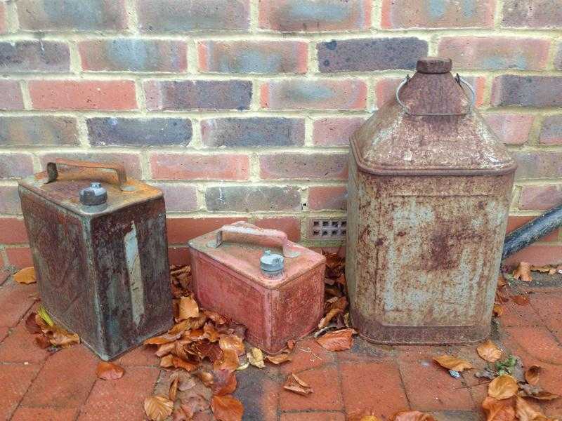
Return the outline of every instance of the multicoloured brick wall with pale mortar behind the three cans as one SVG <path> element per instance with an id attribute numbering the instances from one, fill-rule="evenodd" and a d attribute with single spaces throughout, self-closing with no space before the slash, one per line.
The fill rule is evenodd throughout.
<path id="1" fill-rule="evenodd" d="M 344 218 L 350 133 L 447 55 L 519 162 L 510 227 L 562 202 L 560 0 L 0 3 L 0 265 L 30 265 L 17 179 L 123 161 L 164 190 L 171 259 L 233 220 Z M 562 260 L 555 232 L 523 253 Z M 521 254 L 516 258 L 520 258 Z"/>

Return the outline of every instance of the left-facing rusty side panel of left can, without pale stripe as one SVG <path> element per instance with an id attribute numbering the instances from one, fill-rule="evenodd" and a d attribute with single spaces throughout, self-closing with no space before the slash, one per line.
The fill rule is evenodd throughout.
<path id="1" fill-rule="evenodd" d="M 81 340 L 100 340 L 89 221 L 20 187 L 25 227 L 41 301 L 48 313 Z"/>

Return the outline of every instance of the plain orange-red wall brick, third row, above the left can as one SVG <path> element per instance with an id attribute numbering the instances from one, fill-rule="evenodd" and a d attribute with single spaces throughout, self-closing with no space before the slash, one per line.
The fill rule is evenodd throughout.
<path id="1" fill-rule="evenodd" d="M 30 81 L 34 109 L 136 109 L 134 81 Z"/>

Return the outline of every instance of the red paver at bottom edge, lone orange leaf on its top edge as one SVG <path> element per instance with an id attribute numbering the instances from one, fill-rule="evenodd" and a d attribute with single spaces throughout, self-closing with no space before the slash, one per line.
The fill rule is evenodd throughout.
<path id="1" fill-rule="evenodd" d="M 159 373 L 159 368 L 127 367 L 119 380 L 98 380 L 78 420 L 143 419 L 144 399 L 152 391 Z"/>

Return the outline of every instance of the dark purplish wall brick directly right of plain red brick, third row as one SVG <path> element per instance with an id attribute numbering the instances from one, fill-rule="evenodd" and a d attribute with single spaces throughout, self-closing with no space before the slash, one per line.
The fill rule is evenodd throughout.
<path id="1" fill-rule="evenodd" d="M 251 81 L 147 81 L 146 107 L 150 110 L 248 109 Z"/>

